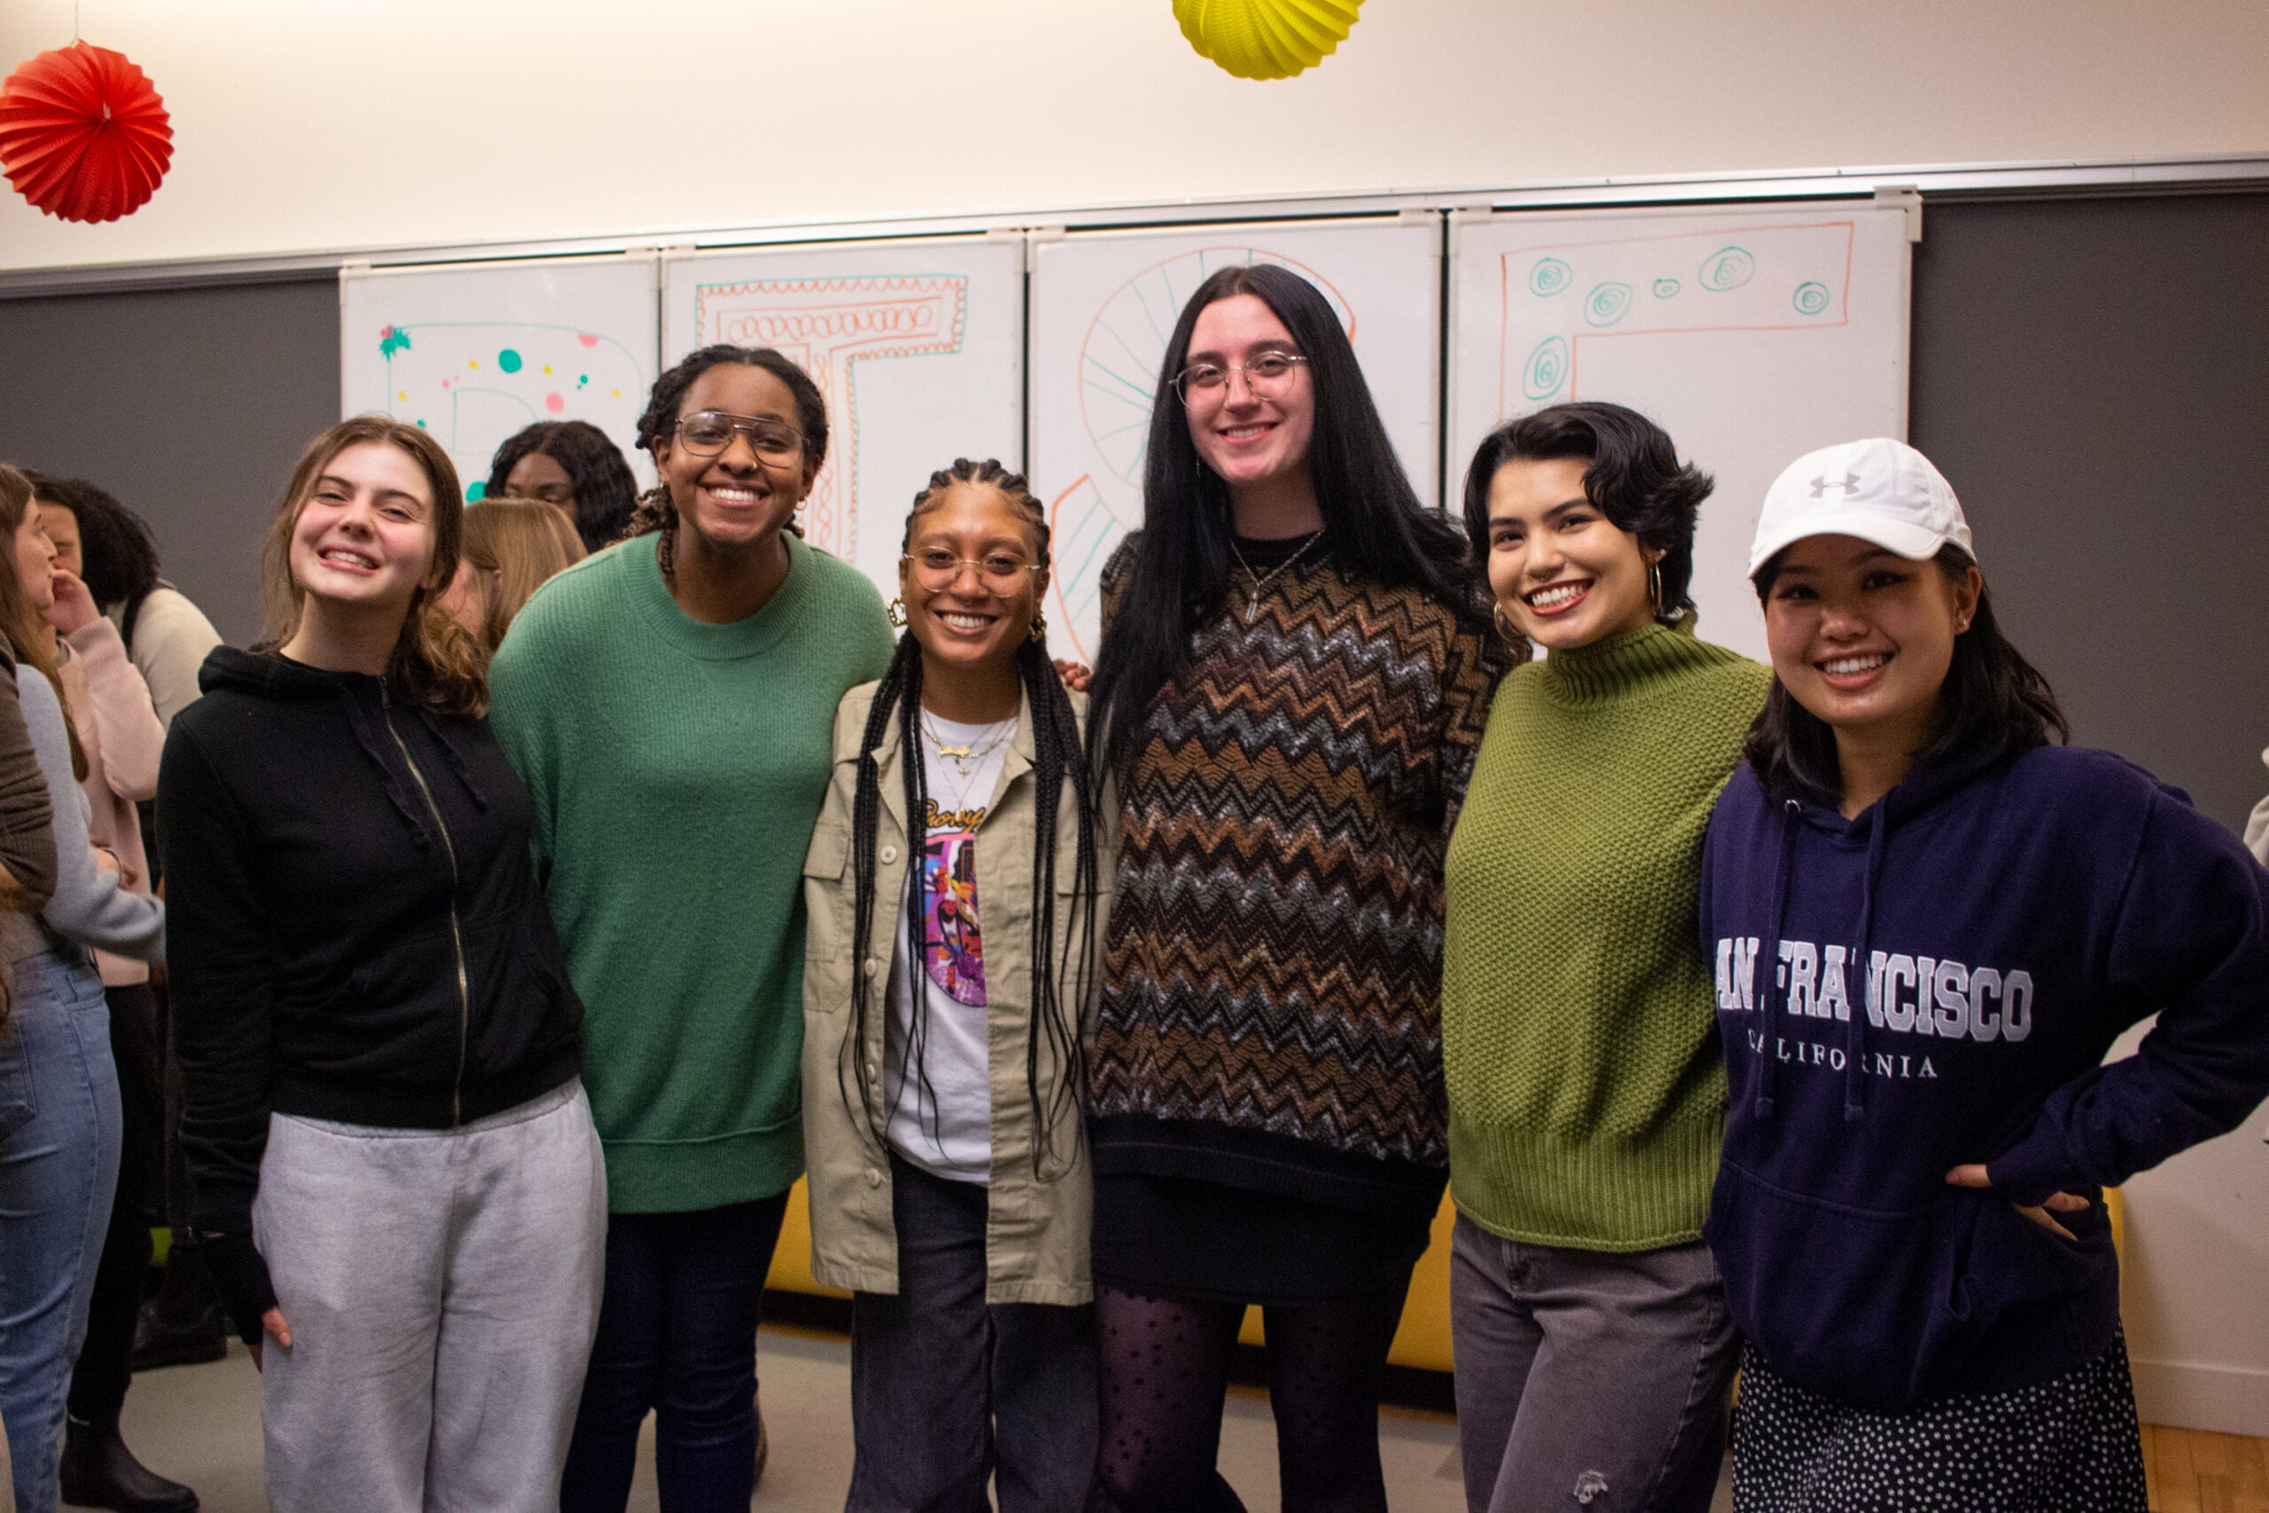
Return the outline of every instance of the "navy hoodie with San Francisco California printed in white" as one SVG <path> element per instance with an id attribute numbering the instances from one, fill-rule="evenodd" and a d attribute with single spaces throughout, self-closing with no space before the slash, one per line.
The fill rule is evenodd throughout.
<path id="1" fill-rule="evenodd" d="M 1740 767 L 1702 853 L 1731 1093 L 1704 1236 L 1772 1370 L 1895 1413 L 2099 1356 L 2101 1189 L 2269 1093 L 2264 885 L 2101 751 L 1924 762 L 1849 821 Z M 1994 1186 L 1949 1186 L 1965 1161 Z M 2074 1241 L 2013 1209 L 2051 1191 L 2092 1205 Z"/>

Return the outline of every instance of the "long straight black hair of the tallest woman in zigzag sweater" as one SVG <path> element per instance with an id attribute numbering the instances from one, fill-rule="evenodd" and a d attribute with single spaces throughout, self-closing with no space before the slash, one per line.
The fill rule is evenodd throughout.
<path id="1" fill-rule="evenodd" d="M 1198 315 L 1234 295 L 1257 295 L 1307 356 L 1316 392 L 1307 467 L 1323 513 L 1325 553 L 1373 583 L 1420 588 L 1450 606 L 1459 622 L 1486 628 L 1466 542 L 1418 504 L 1332 304 L 1289 268 L 1223 268 L 1182 306 L 1157 370 L 1144 460 L 1144 529 L 1096 651 L 1087 719 L 1096 771 L 1137 751 L 1150 699 L 1189 658 L 1191 631 L 1230 590 L 1230 490 L 1189 440 L 1189 411 L 1173 377 L 1189 358 Z"/>

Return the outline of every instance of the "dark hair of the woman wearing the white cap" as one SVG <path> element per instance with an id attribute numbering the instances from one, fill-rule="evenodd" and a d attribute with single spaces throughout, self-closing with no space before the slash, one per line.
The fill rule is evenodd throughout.
<path id="1" fill-rule="evenodd" d="M 1788 560 L 1783 547 L 1756 569 L 1756 601 L 1772 599 L 1772 583 Z M 1972 567 L 1960 547 L 1947 544 L 1933 558 L 1949 581 L 1958 583 Z M 1992 612 L 1992 594 L 1979 585 L 1979 606 L 1969 628 L 1954 637 L 1954 662 L 1938 685 L 1938 733 L 1915 753 L 1917 762 L 1960 758 L 1990 767 L 2001 758 L 2072 739 L 2056 690 L 2024 653 L 2001 635 Z M 1779 678 L 1765 694 L 1743 744 L 1749 769 L 1768 792 L 1797 794 L 1815 803 L 1842 798 L 1842 767 L 1836 760 L 1836 728 L 1797 703 Z"/>

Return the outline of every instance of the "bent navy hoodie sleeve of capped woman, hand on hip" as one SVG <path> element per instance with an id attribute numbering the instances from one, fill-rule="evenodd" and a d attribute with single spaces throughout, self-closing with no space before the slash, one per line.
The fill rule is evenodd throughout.
<path id="1" fill-rule="evenodd" d="M 2269 1096 L 2269 873 L 2167 789 L 2146 805 L 2106 955 L 2110 987 L 2158 1007 L 2158 1025 L 2133 1057 L 2051 1093 L 1988 1161 L 2017 1202 L 2126 1182 Z"/>

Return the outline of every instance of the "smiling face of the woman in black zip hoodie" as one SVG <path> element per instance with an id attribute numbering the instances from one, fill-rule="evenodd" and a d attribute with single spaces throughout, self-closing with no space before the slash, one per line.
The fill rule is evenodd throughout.
<path id="1" fill-rule="evenodd" d="M 356 442 L 324 463 L 290 529 L 290 576 L 336 608 L 402 615 L 433 565 L 433 483 L 408 451 Z"/>

